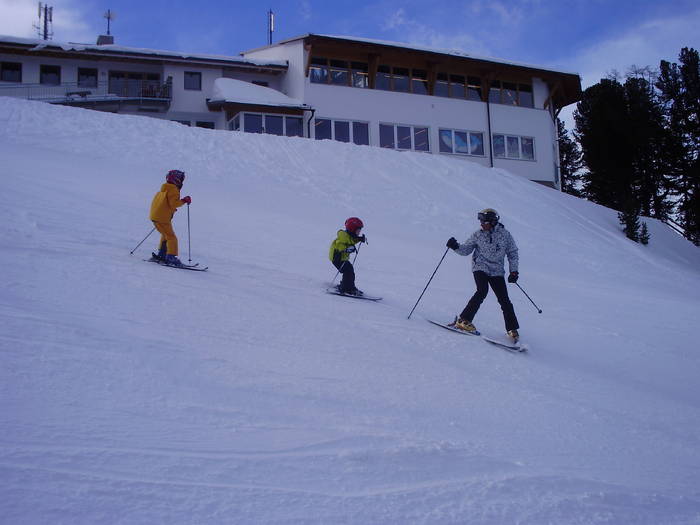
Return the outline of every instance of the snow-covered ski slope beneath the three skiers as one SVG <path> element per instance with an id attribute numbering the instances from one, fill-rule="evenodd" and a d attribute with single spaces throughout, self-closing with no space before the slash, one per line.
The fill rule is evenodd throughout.
<path id="1" fill-rule="evenodd" d="M 649 220 L 439 155 L 0 98 L 0 522 L 700 520 L 700 250 Z M 191 257 L 142 262 L 187 172 Z M 531 350 L 427 323 L 473 292 L 494 207 Z M 346 217 L 369 244 L 326 295 Z M 188 259 L 187 211 L 174 221 Z M 475 319 L 503 330 L 489 296 Z"/>

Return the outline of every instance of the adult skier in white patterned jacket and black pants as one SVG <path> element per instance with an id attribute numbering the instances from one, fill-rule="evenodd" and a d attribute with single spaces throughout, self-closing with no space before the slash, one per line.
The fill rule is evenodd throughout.
<path id="1" fill-rule="evenodd" d="M 503 260 L 508 258 L 510 271 L 508 282 L 516 282 L 518 280 L 518 247 L 510 232 L 498 222 L 500 217 L 496 210 L 486 208 L 480 211 L 477 217 L 481 223 L 481 229 L 474 232 L 469 239 L 462 244 L 459 244 L 454 237 L 450 237 L 447 241 L 447 247 L 459 255 L 472 254 L 472 272 L 476 282 L 476 292 L 459 317 L 455 319 L 453 326 L 466 332 L 477 331 L 472 321 L 491 286 L 503 311 L 506 332 L 515 342 L 520 337 L 518 334 L 520 325 L 515 316 L 513 303 L 508 297 Z"/>

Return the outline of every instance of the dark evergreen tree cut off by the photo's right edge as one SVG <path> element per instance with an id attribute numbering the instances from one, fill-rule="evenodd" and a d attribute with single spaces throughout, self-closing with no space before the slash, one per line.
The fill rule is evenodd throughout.
<path id="1" fill-rule="evenodd" d="M 666 106 L 669 168 L 676 183 L 677 212 L 685 235 L 700 246 L 700 59 L 683 48 L 680 64 L 661 61 L 656 87 Z"/>

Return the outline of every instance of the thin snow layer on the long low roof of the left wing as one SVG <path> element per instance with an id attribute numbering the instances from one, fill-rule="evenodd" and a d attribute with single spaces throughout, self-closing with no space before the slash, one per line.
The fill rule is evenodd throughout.
<path id="1" fill-rule="evenodd" d="M 178 51 L 165 51 L 161 49 L 148 49 L 143 47 L 126 47 L 114 44 L 81 44 L 76 42 L 58 42 L 55 40 L 42 40 L 38 38 L 22 38 L 15 36 L 0 35 L 0 43 L 22 44 L 34 46 L 32 51 L 39 51 L 46 48 L 59 48 L 63 51 L 87 51 L 87 52 L 108 52 L 115 54 L 151 55 L 154 57 L 170 57 L 183 60 L 207 60 L 216 62 L 231 62 L 235 64 L 247 64 L 253 66 L 288 66 L 286 60 L 256 60 L 243 58 L 241 56 L 208 55 L 201 53 L 182 53 Z"/>

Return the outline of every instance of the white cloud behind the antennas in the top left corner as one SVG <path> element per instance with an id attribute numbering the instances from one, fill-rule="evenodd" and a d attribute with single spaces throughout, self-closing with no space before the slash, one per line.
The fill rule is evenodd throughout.
<path id="1" fill-rule="evenodd" d="M 85 20 L 78 0 L 51 0 L 54 40 L 92 42 L 97 30 Z M 34 25 L 39 22 L 36 0 L 0 0 L 0 34 L 38 38 Z"/>

